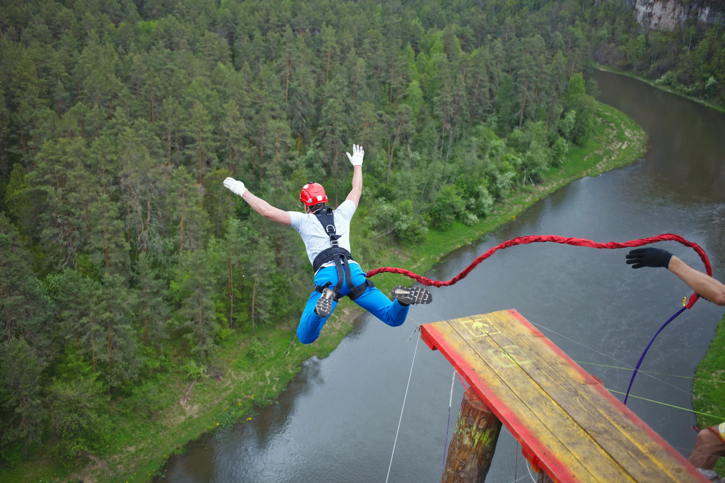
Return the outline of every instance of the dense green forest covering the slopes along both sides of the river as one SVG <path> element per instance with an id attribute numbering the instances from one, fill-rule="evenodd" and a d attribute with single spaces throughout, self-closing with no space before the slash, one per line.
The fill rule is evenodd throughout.
<path id="1" fill-rule="evenodd" d="M 595 59 L 722 102 L 718 26 L 639 30 L 614 2 L 3 1 L 0 468 L 72 468 L 154 418 L 159 375 L 296 325 L 299 236 L 225 177 L 336 206 L 362 144 L 372 268 L 566 162 L 601 123 Z"/>

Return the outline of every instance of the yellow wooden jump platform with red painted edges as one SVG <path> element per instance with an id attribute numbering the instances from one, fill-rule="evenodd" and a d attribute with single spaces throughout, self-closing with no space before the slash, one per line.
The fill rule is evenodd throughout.
<path id="1" fill-rule="evenodd" d="M 421 338 L 554 482 L 709 481 L 516 310 L 426 323 Z"/>

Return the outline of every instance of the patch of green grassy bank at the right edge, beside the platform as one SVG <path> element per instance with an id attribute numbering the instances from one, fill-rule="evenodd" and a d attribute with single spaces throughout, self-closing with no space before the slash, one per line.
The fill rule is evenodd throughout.
<path id="1" fill-rule="evenodd" d="M 692 406 L 701 413 L 697 415 L 697 426 L 705 428 L 725 421 L 725 316 L 715 329 L 708 352 L 695 370 L 692 381 Z M 718 406 L 720 408 L 718 408 Z M 725 459 L 720 458 L 715 467 L 719 474 L 725 474 Z"/>

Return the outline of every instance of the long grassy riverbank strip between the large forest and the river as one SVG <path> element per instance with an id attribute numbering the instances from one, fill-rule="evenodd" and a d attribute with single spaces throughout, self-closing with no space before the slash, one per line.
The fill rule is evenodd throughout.
<path id="1" fill-rule="evenodd" d="M 538 199 L 576 178 L 596 176 L 606 170 L 629 164 L 646 150 L 647 135 L 622 112 L 597 103 L 595 135 L 585 146 L 573 146 L 568 160 L 552 168 L 544 183 L 526 186 L 497 205 L 492 215 L 473 226 L 455 223 L 444 232 L 431 231 L 426 243 L 410 250 L 395 249 L 383 262 L 424 273 L 440 257 L 463 244 L 470 244 L 486 233 L 513 220 Z M 368 267 L 370 268 L 370 267 Z M 408 283 L 402 276 L 378 276 L 376 284 L 384 291 L 395 284 Z M 12 470 L 0 469 L 3 482 L 144 482 L 159 474 L 167 457 L 181 452 L 186 442 L 204 432 L 218 431 L 254 418 L 260 408 L 273 404 L 275 397 L 312 355 L 326 356 L 352 328 L 356 306 L 341 302 L 334 318 L 323 329 L 320 339 L 310 345 L 291 344 L 293 325 L 259 326 L 252 344 L 250 334 L 233 333 L 215 355 L 212 376 L 202 381 L 185 379 L 180 368 L 169 365 L 156 380 L 148 381 L 146 394 L 129 397 L 114 407 L 113 432 L 101 453 L 88 455 L 74 468 L 57 466 L 40 454 Z M 724 335 L 725 338 L 725 335 Z M 135 399 L 153 397 L 153 413 L 139 413 Z M 724 403 L 725 404 L 725 403 Z"/>

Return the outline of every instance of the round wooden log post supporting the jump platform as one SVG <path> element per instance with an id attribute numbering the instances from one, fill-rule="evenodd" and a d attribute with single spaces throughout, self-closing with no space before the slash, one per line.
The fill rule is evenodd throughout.
<path id="1" fill-rule="evenodd" d="M 463 393 L 442 483 L 483 483 L 491 467 L 501 421 L 469 387 Z"/>

